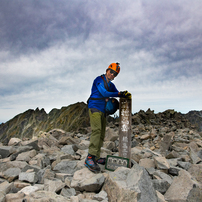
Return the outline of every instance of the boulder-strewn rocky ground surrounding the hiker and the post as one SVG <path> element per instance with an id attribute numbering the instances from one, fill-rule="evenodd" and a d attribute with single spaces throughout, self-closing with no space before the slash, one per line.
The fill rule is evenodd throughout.
<path id="1" fill-rule="evenodd" d="M 149 118 L 148 118 L 149 117 Z M 118 155 L 118 121 L 108 124 L 102 156 Z M 53 129 L 0 145 L 0 201 L 200 202 L 202 133 L 173 112 L 132 117 L 132 167 L 94 174 L 84 166 L 87 133 Z"/>

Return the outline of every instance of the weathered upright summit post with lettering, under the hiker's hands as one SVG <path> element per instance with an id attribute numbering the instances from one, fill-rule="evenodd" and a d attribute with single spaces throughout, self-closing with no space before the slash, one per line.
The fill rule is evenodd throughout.
<path id="1" fill-rule="evenodd" d="M 119 106 L 119 156 L 129 159 L 131 166 L 131 99 L 120 98 Z"/>

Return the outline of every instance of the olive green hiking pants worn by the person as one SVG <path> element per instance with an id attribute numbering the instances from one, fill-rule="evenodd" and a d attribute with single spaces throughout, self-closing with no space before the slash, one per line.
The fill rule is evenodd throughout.
<path id="1" fill-rule="evenodd" d="M 104 113 L 100 111 L 92 113 L 90 109 L 89 115 L 92 133 L 90 136 L 90 145 L 88 153 L 96 156 L 96 159 L 99 159 L 101 147 L 105 138 L 106 117 Z"/>

